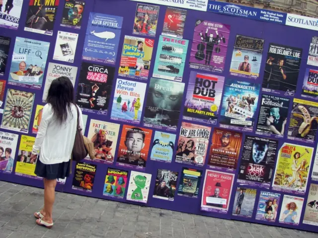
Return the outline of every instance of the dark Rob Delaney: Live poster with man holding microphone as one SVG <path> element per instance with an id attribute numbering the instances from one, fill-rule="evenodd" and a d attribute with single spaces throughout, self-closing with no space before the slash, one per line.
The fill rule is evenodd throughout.
<path id="1" fill-rule="evenodd" d="M 270 43 L 262 91 L 294 96 L 302 52 L 300 48 Z"/>

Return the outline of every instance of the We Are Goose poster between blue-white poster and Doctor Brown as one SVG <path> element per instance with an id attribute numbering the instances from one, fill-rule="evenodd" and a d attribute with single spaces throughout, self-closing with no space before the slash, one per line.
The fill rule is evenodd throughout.
<path id="1" fill-rule="evenodd" d="M 204 166 L 211 127 L 182 121 L 175 162 Z"/>

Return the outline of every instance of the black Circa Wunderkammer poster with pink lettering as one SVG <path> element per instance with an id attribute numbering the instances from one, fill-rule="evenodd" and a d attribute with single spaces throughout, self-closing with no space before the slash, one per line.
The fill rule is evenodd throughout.
<path id="1" fill-rule="evenodd" d="M 115 68 L 82 62 L 76 103 L 83 112 L 107 115 Z"/>

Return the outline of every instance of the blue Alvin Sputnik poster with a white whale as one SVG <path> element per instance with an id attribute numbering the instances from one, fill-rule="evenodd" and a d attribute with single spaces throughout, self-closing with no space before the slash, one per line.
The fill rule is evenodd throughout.
<path id="1" fill-rule="evenodd" d="M 115 64 L 123 17 L 90 12 L 82 59 Z"/>

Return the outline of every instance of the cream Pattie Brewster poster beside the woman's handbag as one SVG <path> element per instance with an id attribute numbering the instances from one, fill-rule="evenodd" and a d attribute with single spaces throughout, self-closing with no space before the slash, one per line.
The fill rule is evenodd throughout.
<path id="1" fill-rule="evenodd" d="M 91 119 L 87 138 L 94 145 L 95 162 L 112 164 L 116 151 L 119 124 Z M 90 160 L 86 157 L 86 160 Z"/>

